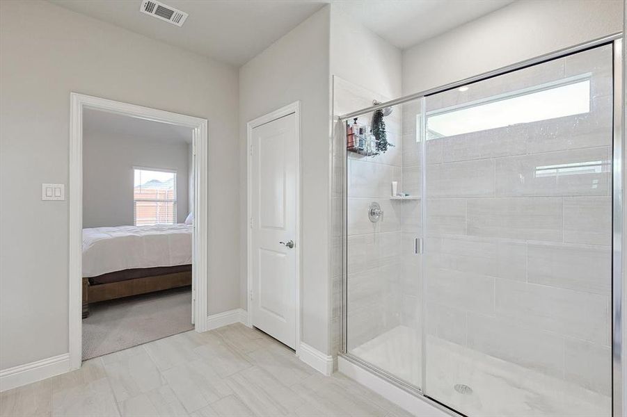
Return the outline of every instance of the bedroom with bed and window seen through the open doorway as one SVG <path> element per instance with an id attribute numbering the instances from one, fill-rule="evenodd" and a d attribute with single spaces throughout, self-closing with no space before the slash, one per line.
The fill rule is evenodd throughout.
<path id="1" fill-rule="evenodd" d="M 193 329 L 192 129 L 83 114 L 83 360 Z"/>

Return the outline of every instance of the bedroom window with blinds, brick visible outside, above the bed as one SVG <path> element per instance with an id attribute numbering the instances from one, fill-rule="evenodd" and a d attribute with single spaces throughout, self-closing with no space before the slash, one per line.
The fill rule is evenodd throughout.
<path id="1" fill-rule="evenodd" d="M 134 168 L 135 225 L 176 223 L 176 171 Z"/>

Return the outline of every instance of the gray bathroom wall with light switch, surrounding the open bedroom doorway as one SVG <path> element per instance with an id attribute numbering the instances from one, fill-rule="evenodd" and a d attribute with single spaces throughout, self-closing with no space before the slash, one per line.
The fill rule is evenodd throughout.
<path id="1" fill-rule="evenodd" d="M 40 190 L 72 91 L 209 120 L 208 313 L 239 307 L 237 70 L 47 1 L 0 2 L 0 51 L 0 368 L 68 352 L 68 201 Z"/>

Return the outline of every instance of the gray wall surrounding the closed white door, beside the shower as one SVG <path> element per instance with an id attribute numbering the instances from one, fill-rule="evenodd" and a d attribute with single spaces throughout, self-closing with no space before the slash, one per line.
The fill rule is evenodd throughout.
<path id="1" fill-rule="evenodd" d="M 328 6 L 239 70 L 240 261 L 246 265 L 246 123 L 301 101 L 301 338 L 328 352 Z M 299 243 L 297 243 L 299 244 Z M 246 268 L 240 303 L 246 308 Z"/>

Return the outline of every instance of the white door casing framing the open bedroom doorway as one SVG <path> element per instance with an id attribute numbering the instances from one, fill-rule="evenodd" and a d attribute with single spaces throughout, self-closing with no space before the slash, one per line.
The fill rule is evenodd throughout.
<path id="1" fill-rule="evenodd" d="M 155 108 L 136 106 L 70 93 L 70 178 L 69 199 L 69 369 L 81 367 L 82 354 L 82 229 L 83 229 L 83 111 L 92 108 L 100 111 L 118 113 L 144 120 L 187 126 L 192 129 L 193 147 L 193 186 L 194 186 L 194 230 L 193 230 L 193 314 L 192 320 L 196 332 L 207 330 L 207 272 L 208 246 L 208 194 L 209 194 L 209 144 L 207 120 L 199 117 L 162 111 Z"/>

